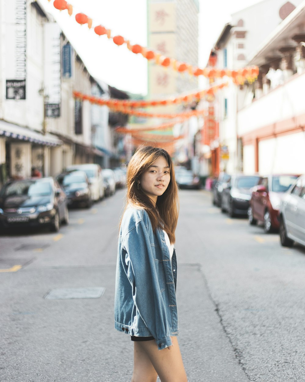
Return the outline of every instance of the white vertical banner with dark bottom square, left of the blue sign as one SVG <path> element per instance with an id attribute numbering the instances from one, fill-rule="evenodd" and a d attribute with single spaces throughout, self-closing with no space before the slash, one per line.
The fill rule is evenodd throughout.
<path id="1" fill-rule="evenodd" d="M 44 88 L 48 101 L 45 105 L 46 117 L 60 117 L 61 73 L 60 73 L 60 33 L 57 23 L 44 26 Z"/>

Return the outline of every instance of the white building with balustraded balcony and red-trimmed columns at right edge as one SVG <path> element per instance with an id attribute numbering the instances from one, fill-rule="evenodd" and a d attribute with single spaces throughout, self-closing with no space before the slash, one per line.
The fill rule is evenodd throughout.
<path id="1" fill-rule="evenodd" d="M 244 172 L 305 172 L 305 2 L 249 60 L 260 75 L 238 112 Z"/>

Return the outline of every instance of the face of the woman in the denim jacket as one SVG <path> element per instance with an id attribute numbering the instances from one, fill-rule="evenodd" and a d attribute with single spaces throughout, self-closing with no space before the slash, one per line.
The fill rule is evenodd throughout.
<path id="1" fill-rule="evenodd" d="M 161 196 L 170 182 L 170 168 L 167 160 L 160 156 L 152 163 L 140 178 L 140 186 L 144 194 L 156 204 L 157 197 Z"/>

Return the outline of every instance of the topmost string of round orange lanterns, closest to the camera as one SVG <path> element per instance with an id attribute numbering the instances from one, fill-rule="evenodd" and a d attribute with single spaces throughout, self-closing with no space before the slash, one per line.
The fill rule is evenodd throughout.
<path id="1" fill-rule="evenodd" d="M 49 2 L 51 0 L 48 0 Z M 73 14 L 73 6 L 66 0 L 54 0 L 53 6 L 59 11 L 67 10 L 69 15 Z M 77 13 L 75 20 L 80 25 L 87 24 L 88 28 L 92 28 L 93 19 L 85 15 L 84 13 Z M 188 73 L 191 76 L 205 76 L 207 78 L 223 78 L 225 76 L 232 78 L 236 84 L 243 84 L 245 81 L 249 83 L 254 82 L 257 79 L 259 69 L 257 66 L 248 66 L 239 70 L 228 69 L 215 69 L 215 68 L 198 68 L 197 66 L 189 65 L 185 62 L 178 62 L 174 58 L 165 57 L 161 53 L 154 50 L 143 47 L 139 44 L 130 44 L 130 41 L 123 36 L 111 36 L 111 29 L 105 28 L 103 25 L 96 25 L 94 32 L 98 36 L 107 36 L 108 39 L 112 39 L 114 44 L 120 46 L 126 44 L 127 48 L 135 54 L 141 54 L 147 60 L 154 60 L 157 65 L 162 65 L 165 68 L 171 67 L 173 70 L 179 73 Z"/>

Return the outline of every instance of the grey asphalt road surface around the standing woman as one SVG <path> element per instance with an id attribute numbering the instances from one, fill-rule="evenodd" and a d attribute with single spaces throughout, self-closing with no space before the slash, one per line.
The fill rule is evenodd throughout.
<path id="1" fill-rule="evenodd" d="M 71 210 L 59 233 L 0 235 L 1 382 L 130 381 L 132 342 L 113 323 L 123 203 L 118 191 Z M 202 190 L 180 191 L 176 249 L 189 382 L 305 381 L 305 249 L 229 219 Z"/>

